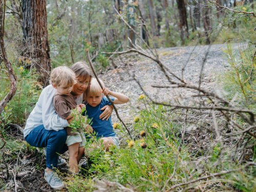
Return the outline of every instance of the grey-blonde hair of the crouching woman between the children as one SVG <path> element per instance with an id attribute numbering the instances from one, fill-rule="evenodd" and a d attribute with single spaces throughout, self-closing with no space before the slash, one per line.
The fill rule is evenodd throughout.
<path id="1" fill-rule="evenodd" d="M 90 68 L 87 66 L 85 61 L 78 61 L 74 63 L 71 68 L 72 71 L 76 74 L 76 78 L 81 81 L 86 81 L 89 78 L 89 82 L 91 82 L 93 75 Z M 83 101 L 86 100 L 90 87 L 86 89 L 83 93 Z"/>

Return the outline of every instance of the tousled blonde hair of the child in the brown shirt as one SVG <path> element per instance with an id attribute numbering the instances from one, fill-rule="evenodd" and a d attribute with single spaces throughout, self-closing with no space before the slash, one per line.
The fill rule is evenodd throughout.
<path id="1" fill-rule="evenodd" d="M 50 80 L 55 86 L 66 87 L 71 83 L 76 83 L 76 75 L 68 67 L 60 66 L 52 70 Z"/>

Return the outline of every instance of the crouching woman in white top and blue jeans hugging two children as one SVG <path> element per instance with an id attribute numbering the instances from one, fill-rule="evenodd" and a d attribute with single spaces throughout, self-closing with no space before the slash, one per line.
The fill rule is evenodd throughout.
<path id="1" fill-rule="evenodd" d="M 72 94 L 74 97 L 83 94 L 83 98 L 86 98 L 92 79 L 90 69 L 83 61 L 76 62 L 70 69 L 75 72 L 77 78 Z M 67 133 L 63 128 L 69 126 L 72 119 L 67 121 L 56 114 L 53 107 L 55 92 L 52 85 L 42 90 L 38 102 L 27 120 L 24 138 L 34 147 L 46 147 L 45 179 L 52 188 L 61 189 L 64 184 L 53 169 L 57 168 L 59 164 L 66 163 L 63 159 L 58 160 L 58 154 L 63 154 L 68 150 L 68 146 L 65 144 Z M 104 112 L 100 119 L 108 120 L 112 114 L 112 106 L 106 105 L 101 110 Z"/>

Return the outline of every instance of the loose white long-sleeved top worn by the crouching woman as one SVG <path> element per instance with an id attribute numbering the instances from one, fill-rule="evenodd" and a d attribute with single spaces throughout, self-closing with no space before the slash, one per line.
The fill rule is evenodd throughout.
<path id="1" fill-rule="evenodd" d="M 35 127 L 44 124 L 46 130 L 59 131 L 69 126 L 66 119 L 61 119 L 55 112 L 53 106 L 53 96 L 56 89 L 50 84 L 39 96 L 35 108 L 29 115 L 25 129 L 24 137 L 26 137 Z"/>

